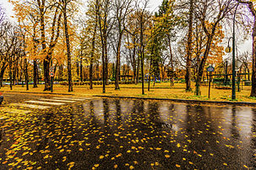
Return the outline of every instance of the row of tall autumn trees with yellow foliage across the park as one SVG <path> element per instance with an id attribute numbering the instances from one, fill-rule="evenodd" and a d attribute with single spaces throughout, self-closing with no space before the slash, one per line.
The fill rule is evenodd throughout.
<path id="1" fill-rule="evenodd" d="M 115 89 L 122 66 L 133 72 L 133 80 L 142 82 L 144 77 L 159 77 L 167 70 L 185 70 L 186 90 L 200 82 L 205 67 L 222 65 L 225 35 L 229 35 L 231 19 L 236 14 L 237 27 L 243 33 L 255 32 L 253 3 L 242 0 L 163 0 L 159 10 L 151 13 L 149 1 L 90 0 L 86 5 L 79 0 L 12 0 L 18 24 L 11 24 L 0 17 L 0 81 L 7 74 L 25 77 L 28 86 L 30 67 L 33 67 L 34 87 L 38 71 L 43 70 L 45 90 L 50 89 L 50 66 L 68 77 L 68 92 L 73 91 L 74 74 L 84 80 L 84 69 L 90 68 L 90 88 L 95 64 L 101 63 L 103 93 L 109 79 L 109 66 L 115 77 Z M 244 10 L 248 6 L 248 12 Z M 251 12 L 252 18 L 246 15 Z M 255 27 L 255 24 L 254 24 Z M 247 34 L 245 34 L 247 35 Z M 255 37 L 255 33 L 253 37 Z M 253 38 L 254 40 L 254 38 Z M 251 65 L 253 88 L 256 96 L 255 48 L 253 42 Z M 110 64 L 111 63 L 111 64 Z M 248 69 L 250 70 L 250 69 Z M 174 85 L 174 76 L 171 85 Z M 149 83 L 150 90 L 150 83 Z"/>

